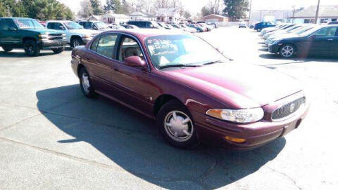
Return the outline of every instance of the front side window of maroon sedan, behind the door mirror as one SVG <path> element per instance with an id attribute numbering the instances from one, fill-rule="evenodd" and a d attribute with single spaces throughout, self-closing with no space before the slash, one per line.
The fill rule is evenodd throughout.
<path id="1" fill-rule="evenodd" d="M 125 58 L 130 56 L 139 56 L 144 60 L 144 56 L 141 48 L 134 39 L 130 37 L 125 37 L 121 43 L 120 50 L 118 51 L 118 60 L 123 62 Z"/>

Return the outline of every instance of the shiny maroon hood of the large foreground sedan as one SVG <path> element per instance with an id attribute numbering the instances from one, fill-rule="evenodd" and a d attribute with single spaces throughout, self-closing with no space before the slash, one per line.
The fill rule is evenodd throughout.
<path id="1" fill-rule="evenodd" d="M 164 72 L 232 109 L 263 107 L 302 90 L 291 76 L 234 62 Z"/>

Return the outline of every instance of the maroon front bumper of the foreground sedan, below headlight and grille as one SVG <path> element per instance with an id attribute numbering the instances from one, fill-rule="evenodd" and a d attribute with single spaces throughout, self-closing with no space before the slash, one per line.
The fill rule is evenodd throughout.
<path id="1" fill-rule="evenodd" d="M 273 109 L 274 105 L 268 105 L 264 109 Z M 296 111 L 294 116 L 284 121 L 269 121 L 269 114 L 265 113 L 265 117 L 256 123 L 239 124 L 221 121 L 210 116 L 203 117 L 203 121 L 196 122 L 200 140 L 220 145 L 228 149 L 247 150 L 260 147 L 277 138 L 284 137 L 290 131 L 299 128 L 299 125 L 306 117 L 309 104 L 306 103 L 302 109 Z M 194 113 L 196 114 L 196 113 Z M 194 116 L 196 118 L 196 116 Z M 196 120 L 196 119 L 195 119 Z M 245 139 L 244 143 L 235 143 L 225 140 L 225 137 L 235 137 Z"/>

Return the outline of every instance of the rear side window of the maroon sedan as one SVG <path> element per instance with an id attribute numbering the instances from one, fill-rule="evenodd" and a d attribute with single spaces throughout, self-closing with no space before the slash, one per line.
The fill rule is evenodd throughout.
<path id="1" fill-rule="evenodd" d="M 97 45 L 96 52 L 108 58 L 113 58 L 117 34 L 104 34 Z"/>

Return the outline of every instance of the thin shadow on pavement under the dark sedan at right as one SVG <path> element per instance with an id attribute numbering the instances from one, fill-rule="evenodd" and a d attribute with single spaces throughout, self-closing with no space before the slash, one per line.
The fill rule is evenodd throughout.
<path id="1" fill-rule="evenodd" d="M 290 57 L 290 58 L 284 58 L 281 57 L 280 55 L 273 54 L 273 53 L 268 53 L 268 54 L 261 54 L 259 57 L 263 59 L 268 59 L 268 60 L 292 60 L 295 62 L 338 62 L 338 57 L 325 57 L 325 56 L 296 56 L 296 57 Z M 290 62 L 288 64 L 292 64 L 294 62 Z M 276 65 L 282 65 L 282 64 L 276 64 Z"/>

